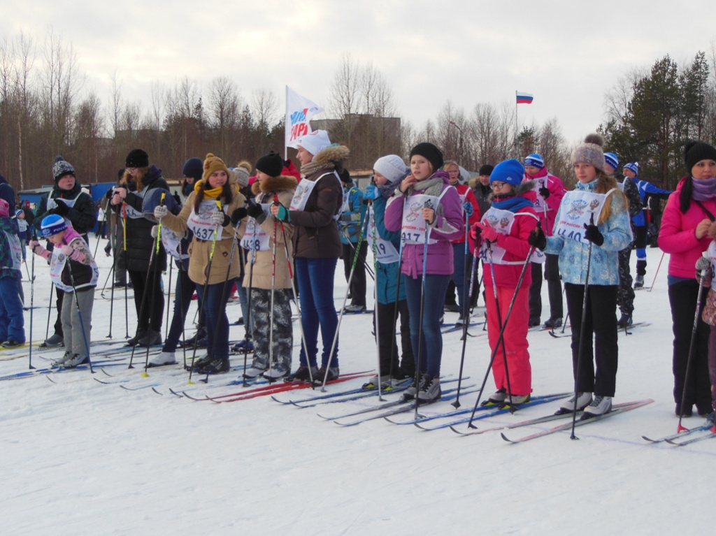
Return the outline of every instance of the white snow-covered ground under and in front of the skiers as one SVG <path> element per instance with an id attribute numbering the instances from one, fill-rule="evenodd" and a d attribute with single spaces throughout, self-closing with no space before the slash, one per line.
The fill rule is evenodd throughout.
<path id="1" fill-rule="evenodd" d="M 92 248 L 95 241 L 92 240 Z M 102 245 L 100 252 L 102 253 Z M 661 251 L 648 249 L 647 284 Z M 110 301 L 100 297 L 109 263 L 100 257 L 93 336 L 110 332 Z M 632 263 L 635 263 L 632 255 Z M 150 370 L 107 367 L 127 391 L 93 381 L 89 371 L 0 381 L 0 532 L 4 535 L 407 535 L 512 534 L 660 535 L 705 532 L 712 525 L 705 470 L 716 462 L 716 442 L 688 447 L 651 445 L 642 434 L 674 432 L 672 333 L 667 299 L 667 258 L 652 292 L 637 293 L 635 321 L 651 326 L 619 335 L 615 402 L 653 398 L 654 403 L 604 422 L 511 445 L 498 432 L 459 437 L 450 430 L 422 432 L 374 420 L 339 427 L 316 416 L 344 414 L 375 399 L 299 409 L 269 397 L 233 404 L 195 402 L 168 394 L 241 391 L 228 378 L 208 386 L 187 384 L 179 367 Z M 634 267 L 632 266 L 632 271 Z M 49 276 L 36 263 L 35 341 L 44 339 Z M 165 277 L 165 283 L 168 283 Z M 29 301 L 29 283 L 25 283 Z M 339 267 L 337 306 L 345 282 Z M 109 296 L 109 292 L 105 292 Z M 340 296 L 340 298 L 339 298 Z M 548 303 L 546 285 L 543 303 Z M 115 294 L 112 335 L 125 334 L 123 294 Z M 130 298 L 130 330 L 134 313 Z M 229 306 L 231 321 L 240 316 Z M 455 314 L 447 315 L 446 321 Z M 54 321 L 54 312 L 52 319 Z M 543 318 L 545 320 L 546 318 Z M 29 313 L 26 313 L 29 331 Z M 375 351 L 368 315 L 344 317 L 342 372 L 370 369 Z M 472 328 L 480 333 L 480 328 Z M 233 326 L 231 337 L 243 328 Z M 298 337 L 298 333 L 296 333 Z M 572 389 L 569 338 L 529 335 L 534 394 Z M 457 376 L 460 333 L 445 335 L 443 374 Z M 99 346 L 97 348 L 100 348 Z M 27 358 L 0 354 L 0 376 L 27 369 Z M 26 354 L 26 351 L 24 352 Z M 47 356 L 54 354 L 47 353 Z M 468 383 L 481 381 L 488 364 L 487 337 L 470 338 Z M 143 355 L 140 356 L 143 360 Z M 47 361 L 33 351 L 34 364 Z M 239 364 L 241 359 L 233 359 Z M 297 349 L 294 363 L 297 362 Z M 95 376 L 112 380 L 101 371 Z M 238 376 L 233 373 L 232 376 Z M 224 386 L 216 386 L 217 384 Z M 349 381 L 329 390 L 359 386 Z M 212 386 L 213 385 L 213 386 Z M 490 379 L 488 392 L 493 389 Z M 310 396 L 307 391 L 282 398 Z M 395 395 L 394 395 L 395 397 Z M 471 406 L 474 395 L 465 395 Z M 557 402 L 478 421 L 509 424 L 548 414 Z M 448 408 L 447 402 L 425 409 Z M 412 414 L 410 414 L 412 416 Z M 407 419 L 400 416 L 399 419 Z M 684 420 L 701 424 L 694 417 Z M 516 429 L 511 437 L 541 427 Z"/>

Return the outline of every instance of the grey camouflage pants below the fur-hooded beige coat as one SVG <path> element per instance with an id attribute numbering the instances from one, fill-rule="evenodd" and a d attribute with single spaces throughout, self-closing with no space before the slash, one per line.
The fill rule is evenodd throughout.
<path id="1" fill-rule="evenodd" d="M 272 368 L 291 370 L 294 349 L 294 328 L 291 325 L 291 289 L 274 290 L 274 361 Z M 251 315 L 253 316 L 253 366 L 269 368 L 269 338 L 271 333 L 271 291 L 251 289 Z"/>

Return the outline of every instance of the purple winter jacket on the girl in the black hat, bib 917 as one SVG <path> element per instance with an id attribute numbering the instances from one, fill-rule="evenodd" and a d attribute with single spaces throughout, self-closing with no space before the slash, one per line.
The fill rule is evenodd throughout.
<path id="1" fill-rule="evenodd" d="M 443 276 L 452 275 L 453 245 L 450 240 L 457 240 L 465 233 L 463 207 L 460 205 L 458 190 L 450 186 L 450 177 L 446 172 L 438 171 L 432 177 L 442 177 L 442 191 L 445 193 L 440 199 L 440 205 L 435 207 L 435 222 L 430 231 L 430 238 L 437 240 L 437 243 L 427 246 L 425 273 Z M 408 192 L 409 197 L 422 193 L 415 192 L 412 188 Z M 401 230 L 405 199 L 405 195 L 400 192 L 400 189 L 396 188 L 385 209 L 385 228 L 387 230 Z M 422 276 L 422 251 L 424 247 L 422 244 L 403 245 L 401 271 L 406 276 L 415 279 Z"/>

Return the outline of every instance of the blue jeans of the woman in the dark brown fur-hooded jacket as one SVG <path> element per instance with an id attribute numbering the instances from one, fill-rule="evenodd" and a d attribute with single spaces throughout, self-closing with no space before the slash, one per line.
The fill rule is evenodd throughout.
<path id="1" fill-rule="evenodd" d="M 338 316 L 333 303 L 333 279 L 336 274 L 337 258 L 305 258 L 296 257 L 296 281 L 299 283 L 299 300 L 301 301 L 301 324 L 309 356 L 306 360 L 306 349 L 301 344 L 301 365 L 316 366 L 318 355 L 318 328 L 321 327 L 323 353 L 321 366 L 338 366 L 338 340 L 333 359 L 329 353 L 333 338 L 337 335 Z M 445 294 L 445 289 L 442 291 Z"/>

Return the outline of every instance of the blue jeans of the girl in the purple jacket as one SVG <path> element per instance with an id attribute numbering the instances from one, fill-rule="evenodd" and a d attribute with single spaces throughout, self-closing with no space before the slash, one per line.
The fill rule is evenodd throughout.
<path id="1" fill-rule="evenodd" d="M 440 333 L 440 316 L 442 304 L 445 303 L 445 291 L 448 290 L 450 275 L 440 276 L 428 274 L 425 276 L 425 301 L 422 306 L 422 329 L 420 328 L 420 294 L 422 293 L 422 278 L 413 279 L 405 276 L 405 298 L 410 311 L 410 341 L 412 353 L 415 355 L 415 366 L 420 365 L 421 372 L 432 376 L 440 376 L 440 361 L 442 360 L 442 333 Z M 418 346 L 419 335 L 422 335 L 420 354 Z"/>

